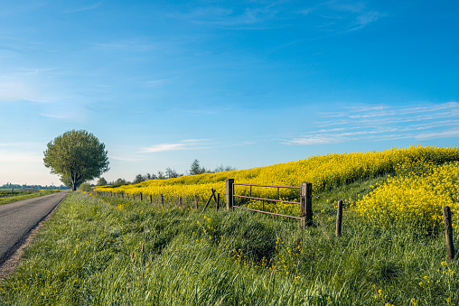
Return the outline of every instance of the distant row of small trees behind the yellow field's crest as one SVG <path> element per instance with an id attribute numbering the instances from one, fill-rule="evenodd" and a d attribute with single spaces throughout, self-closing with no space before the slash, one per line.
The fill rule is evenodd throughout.
<path id="1" fill-rule="evenodd" d="M 232 170 L 237 170 L 236 168 L 230 167 L 230 166 L 223 166 L 220 165 L 214 170 L 211 169 L 206 169 L 204 167 L 201 167 L 201 164 L 198 160 L 194 160 L 192 162 L 192 165 L 190 167 L 190 170 L 188 171 L 188 175 L 195 175 L 195 174 L 202 174 L 202 173 L 216 173 L 216 172 L 228 172 Z M 98 186 L 105 186 L 105 185 L 126 185 L 126 184 L 138 184 L 139 182 L 142 181 L 150 181 L 150 180 L 166 180 L 166 179 L 173 179 L 173 178 L 178 178 L 183 176 L 183 173 L 178 173 L 175 171 L 175 169 L 171 168 L 166 168 L 164 172 L 158 171 L 157 174 L 155 173 L 146 173 L 146 174 L 137 174 L 136 177 L 134 178 L 134 181 L 126 181 L 125 179 L 117 179 L 117 181 L 107 181 L 103 177 L 98 179 Z"/>

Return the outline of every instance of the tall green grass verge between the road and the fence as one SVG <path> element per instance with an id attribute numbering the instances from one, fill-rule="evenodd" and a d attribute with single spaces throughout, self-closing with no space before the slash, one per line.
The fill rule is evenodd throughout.
<path id="1" fill-rule="evenodd" d="M 0 284 L 0 302 L 459 303 L 459 279 L 449 270 L 455 263 L 445 264 L 443 234 L 370 227 L 345 209 L 342 236 L 334 236 L 335 208 L 326 199 L 355 199 L 374 182 L 321 194 L 313 201 L 315 226 L 305 229 L 243 210 L 201 213 L 73 192 Z"/>

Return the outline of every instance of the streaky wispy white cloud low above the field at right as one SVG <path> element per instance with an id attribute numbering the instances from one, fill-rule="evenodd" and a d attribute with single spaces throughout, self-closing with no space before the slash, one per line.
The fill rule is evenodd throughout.
<path id="1" fill-rule="evenodd" d="M 284 144 L 337 144 L 407 138 L 422 141 L 459 136 L 457 102 L 421 107 L 346 107 L 340 112 L 319 116 L 334 119 L 318 121 L 314 124 L 315 130 L 292 137 Z"/>

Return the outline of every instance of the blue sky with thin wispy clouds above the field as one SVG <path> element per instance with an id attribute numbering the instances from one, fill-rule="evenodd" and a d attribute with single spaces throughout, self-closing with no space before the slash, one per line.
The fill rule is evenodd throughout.
<path id="1" fill-rule="evenodd" d="M 58 184 L 85 129 L 108 181 L 459 145 L 454 1 L 45 1 L 0 10 L 0 185 Z"/>

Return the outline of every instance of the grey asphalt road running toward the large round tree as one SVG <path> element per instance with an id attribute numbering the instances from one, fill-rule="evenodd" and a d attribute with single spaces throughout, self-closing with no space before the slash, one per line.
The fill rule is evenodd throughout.
<path id="1" fill-rule="evenodd" d="M 0 206 L 0 264 L 11 255 L 23 237 L 68 194 L 68 190 L 61 191 Z"/>

